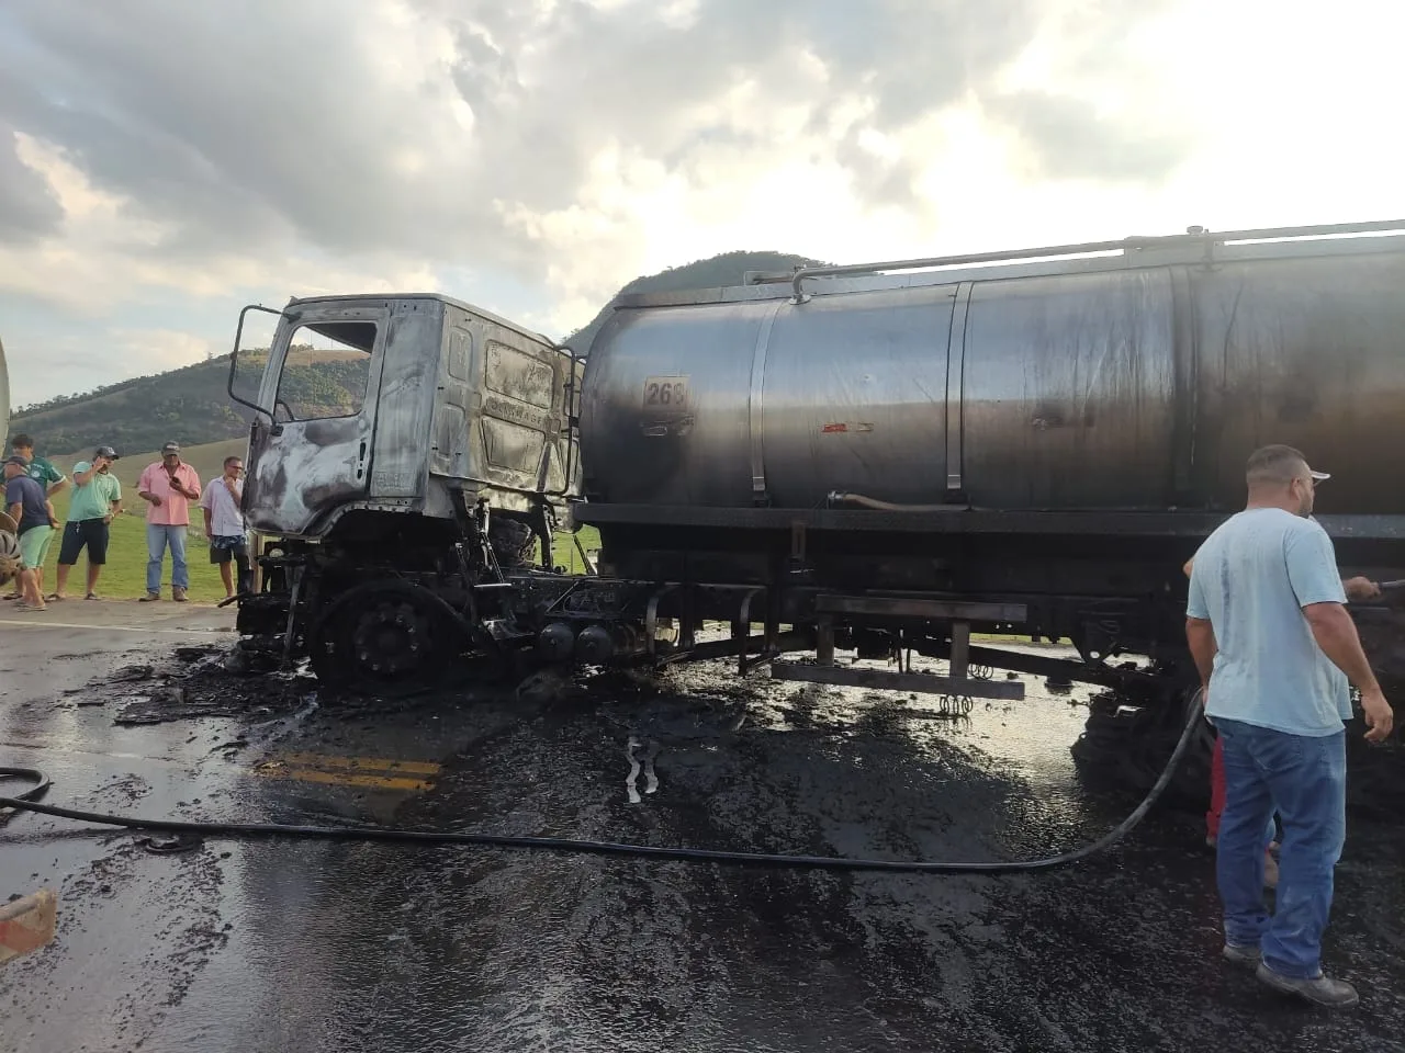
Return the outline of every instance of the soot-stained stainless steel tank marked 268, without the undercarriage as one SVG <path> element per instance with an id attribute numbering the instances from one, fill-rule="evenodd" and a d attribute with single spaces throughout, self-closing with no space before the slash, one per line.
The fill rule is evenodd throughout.
<path id="1" fill-rule="evenodd" d="M 1405 511 L 1402 233 L 1187 234 L 627 298 L 586 366 L 586 491 L 1218 508 L 1242 501 L 1255 446 L 1288 442 L 1333 473 L 1335 511 Z"/>

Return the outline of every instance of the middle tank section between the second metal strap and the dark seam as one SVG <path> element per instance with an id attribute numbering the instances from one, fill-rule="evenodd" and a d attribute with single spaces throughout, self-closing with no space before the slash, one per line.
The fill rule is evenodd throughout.
<path id="1" fill-rule="evenodd" d="M 964 490 L 995 508 L 1169 507 L 1169 271 L 978 284 L 964 362 Z"/>

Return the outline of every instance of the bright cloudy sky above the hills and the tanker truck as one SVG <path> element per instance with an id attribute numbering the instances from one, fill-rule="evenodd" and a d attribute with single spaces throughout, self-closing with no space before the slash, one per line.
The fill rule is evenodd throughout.
<path id="1" fill-rule="evenodd" d="M 1401 39 L 1397 0 L 0 0 L 13 399 L 316 291 L 562 337 L 731 249 L 1397 218 Z"/>

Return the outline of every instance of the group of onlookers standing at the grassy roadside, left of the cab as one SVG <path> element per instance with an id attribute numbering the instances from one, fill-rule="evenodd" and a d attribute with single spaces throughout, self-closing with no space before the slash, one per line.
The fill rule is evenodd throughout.
<path id="1" fill-rule="evenodd" d="M 98 600 L 97 583 L 107 563 L 110 531 L 114 517 L 122 514 L 122 484 L 112 473 L 117 451 L 98 446 L 87 461 L 73 466 L 73 497 L 67 521 L 60 524 L 53 511 L 53 496 L 69 486 L 69 479 L 49 461 L 37 456 L 34 439 L 15 435 L 11 455 L 4 462 L 4 510 L 14 521 L 22 569 L 7 600 L 17 600 L 17 611 L 44 611 L 49 602 L 67 600 L 69 573 L 87 550 L 86 600 Z M 185 534 L 190 505 L 204 511 L 209 562 L 219 567 L 226 595 L 253 590 L 253 569 L 243 501 L 243 458 L 225 458 L 223 475 L 201 489 L 200 475 L 181 461 L 180 445 L 167 442 L 162 458 L 142 470 L 138 497 L 146 503 L 146 592 L 142 602 L 162 598 L 162 569 L 166 549 L 171 553 L 171 600 L 187 601 L 190 569 L 185 564 Z M 45 594 L 44 562 L 56 531 L 62 531 L 55 588 Z M 235 580 L 237 569 L 237 583 Z"/>

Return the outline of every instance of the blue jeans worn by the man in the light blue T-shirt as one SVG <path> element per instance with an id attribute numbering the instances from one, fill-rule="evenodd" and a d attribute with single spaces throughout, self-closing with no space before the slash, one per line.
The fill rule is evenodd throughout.
<path id="1" fill-rule="evenodd" d="M 1217 719 L 1224 740 L 1225 810 L 1215 876 L 1225 942 L 1259 946 L 1269 969 L 1295 979 L 1322 972 L 1332 870 L 1346 842 L 1346 733 L 1312 739 Z M 1263 899 L 1263 831 L 1283 823 L 1277 908 Z"/>

